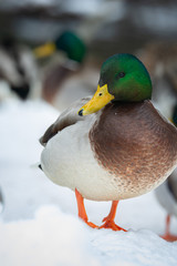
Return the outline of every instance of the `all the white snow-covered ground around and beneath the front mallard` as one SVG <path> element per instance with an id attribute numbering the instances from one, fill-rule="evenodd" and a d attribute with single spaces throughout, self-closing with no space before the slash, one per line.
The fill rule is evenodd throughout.
<path id="1" fill-rule="evenodd" d="M 59 113 L 42 101 L 0 103 L 1 266 L 176 266 L 177 242 L 167 243 L 166 212 L 154 192 L 122 201 L 116 223 L 128 229 L 92 229 L 77 218 L 74 193 L 49 181 L 38 167 L 38 139 Z M 111 203 L 85 201 L 101 225 Z M 171 233 L 177 234 L 173 218 Z"/>

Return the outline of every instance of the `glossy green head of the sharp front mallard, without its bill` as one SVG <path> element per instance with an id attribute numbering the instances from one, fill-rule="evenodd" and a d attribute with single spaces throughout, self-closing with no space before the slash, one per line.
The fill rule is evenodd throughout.
<path id="1" fill-rule="evenodd" d="M 107 84 L 115 101 L 139 102 L 152 98 L 152 81 L 146 68 L 128 53 L 115 54 L 103 63 L 98 84 Z"/>

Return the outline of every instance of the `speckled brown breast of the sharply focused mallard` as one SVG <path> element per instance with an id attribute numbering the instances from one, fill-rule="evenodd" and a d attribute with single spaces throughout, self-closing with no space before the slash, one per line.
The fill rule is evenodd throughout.
<path id="1" fill-rule="evenodd" d="M 108 104 L 90 141 L 124 198 L 156 187 L 177 164 L 177 130 L 150 101 Z"/>

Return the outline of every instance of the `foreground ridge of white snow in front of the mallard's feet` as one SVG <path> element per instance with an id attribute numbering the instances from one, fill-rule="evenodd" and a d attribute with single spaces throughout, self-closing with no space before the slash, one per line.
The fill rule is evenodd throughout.
<path id="1" fill-rule="evenodd" d="M 1 223 L 0 235 L 3 266 L 176 266 L 177 243 L 167 244 L 145 229 L 91 229 L 75 216 L 52 206 L 42 207 L 34 219 Z"/>

